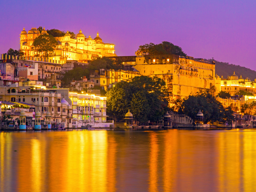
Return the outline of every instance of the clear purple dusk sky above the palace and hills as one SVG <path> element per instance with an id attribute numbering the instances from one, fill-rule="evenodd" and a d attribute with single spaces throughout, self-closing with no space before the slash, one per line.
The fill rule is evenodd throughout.
<path id="1" fill-rule="evenodd" d="M 20 32 L 56 28 L 88 37 L 97 31 L 118 56 L 139 45 L 169 41 L 189 56 L 256 70 L 256 1 L 0 1 L 0 53 L 19 49 Z"/>

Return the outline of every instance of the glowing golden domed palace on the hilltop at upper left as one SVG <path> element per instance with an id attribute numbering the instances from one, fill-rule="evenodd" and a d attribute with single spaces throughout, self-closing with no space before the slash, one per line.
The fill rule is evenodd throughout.
<path id="1" fill-rule="evenodd" d="M 36 55 L 31 50 L 32 44 L 37 36 L 47 34 L 45 28 L 40 33 L 36 28 L 31 28 L 28 33 L 23 28 L 20 34 L 20 49 L 23 50 L 26 57 L 33 57 Z M 82 31 L 76 35 L 76 38 L 71 38 L 71 35 L 67 33 L 62 37 L 55 37 L 58 45 L 55 49 L 56 56 L 50 57 L 51 60 L 77 60 L 78 62 L 87 63 L 88 60 L 92 60 L 95 57 L 103 56 L 116 56 L 115 44 L 103 43 L 102 39 L 97 33 L 97 36 L 92 39 L 91 36 L 86 38 Z"/>

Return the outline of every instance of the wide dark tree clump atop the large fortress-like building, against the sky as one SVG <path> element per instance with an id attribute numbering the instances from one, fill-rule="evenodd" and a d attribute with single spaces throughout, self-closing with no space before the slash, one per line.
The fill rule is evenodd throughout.
<path id="1" fill-rule="evenodd" d="M 167 41 L 163 41 L 160 44 L 150 43 L 150 44 L 140 45 L 139 49 L 135 52 L 135 54 L 142 55 L 143 52 L 148 52 L 150 55 L 175 54 L 180 56 L 187 56 L 187 54 L 182 51 L 181 47 Z"/>

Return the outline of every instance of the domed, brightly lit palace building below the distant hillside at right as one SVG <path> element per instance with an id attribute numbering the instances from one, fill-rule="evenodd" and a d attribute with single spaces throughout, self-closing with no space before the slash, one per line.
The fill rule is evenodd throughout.
<path id="1" fill-rule="evenodd" d="M 233 75 L 228 76 L 227 79 L 224 79 L 223 77 L 221 78 L 221 91 L 229 92 L 231 95 L 234 95 L 235 92 L 238 92 L 239 90 L 249 91 L 256 94 L 256 79 L 251 82 L 248 77 L 244 79 L 240 76 L 238 78 L 235 72 Z"/>

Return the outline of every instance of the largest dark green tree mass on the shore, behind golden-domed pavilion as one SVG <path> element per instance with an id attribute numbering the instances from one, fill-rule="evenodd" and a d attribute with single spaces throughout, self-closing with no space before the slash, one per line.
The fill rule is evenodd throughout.
<path id="1" fill-rule="evenodd" d="M 130 109 L 139 122 L 158 121 L 169 109 L 166 84 L 158 77 L 136 76 L 119 82 L 106 96 L 108 112 L 119 119 Z"/>

